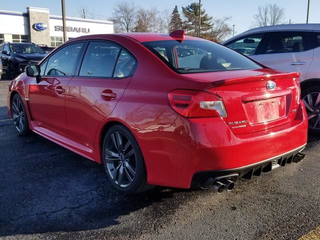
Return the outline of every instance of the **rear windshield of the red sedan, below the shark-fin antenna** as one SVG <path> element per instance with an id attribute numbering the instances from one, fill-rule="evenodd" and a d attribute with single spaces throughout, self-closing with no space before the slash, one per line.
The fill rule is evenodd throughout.
<path id="1" fill-rule="evenodd" d="M 240 53 L 210 41 L 162 40 L 142 44 L 179 73 L 262 68 Z"/>

